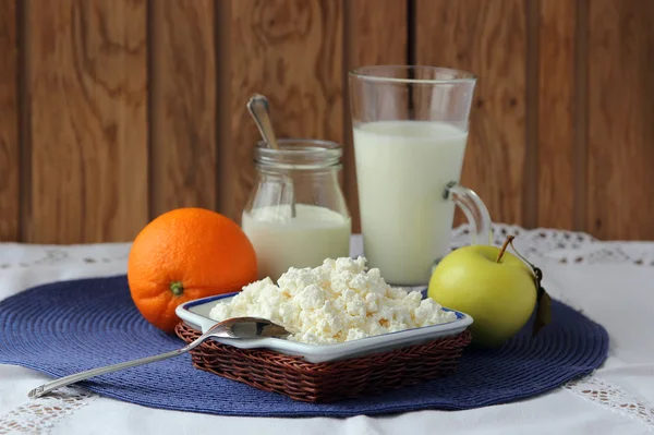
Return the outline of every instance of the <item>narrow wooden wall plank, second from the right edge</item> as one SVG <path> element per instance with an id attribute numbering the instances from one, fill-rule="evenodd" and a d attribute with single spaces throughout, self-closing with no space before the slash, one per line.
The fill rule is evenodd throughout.
<path id="1" fill-rule="evenodd" d="M 577 5 L 538 1 L 537 226 L 572 229 Z M 581 198 L 579 198 L 581 200 Z"/>

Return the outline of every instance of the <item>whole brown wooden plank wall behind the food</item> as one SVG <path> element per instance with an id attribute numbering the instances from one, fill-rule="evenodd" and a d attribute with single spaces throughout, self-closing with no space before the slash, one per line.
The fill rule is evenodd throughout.
<path id="1" fill-rule="evenodd" d="M 480 76 L 462 183 L 495 221 L 654 239 L 653 0 L 0 0 L 0 240 L 128 241 L 181 206 L 239 221 L 266 94 L 346 146 L 347 70 Z"/>

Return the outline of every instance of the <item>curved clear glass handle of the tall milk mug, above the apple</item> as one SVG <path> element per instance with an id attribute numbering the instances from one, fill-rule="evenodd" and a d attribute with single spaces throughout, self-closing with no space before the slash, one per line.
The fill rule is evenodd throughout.
<path id="1" fill-rule="evenodd" d="M 470 225 L 472 244 L 493 244 L 491 215 L 484 202 L 473 190 L 451 181 L 445 188 L 443 196 L 446 200 L 453 201 L 465 214 Z"/>

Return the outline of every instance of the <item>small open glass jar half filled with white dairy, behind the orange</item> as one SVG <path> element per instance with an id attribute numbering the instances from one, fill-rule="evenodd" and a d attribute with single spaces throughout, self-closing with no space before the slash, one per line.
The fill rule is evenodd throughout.
<path id="1" fill-rule="evenodd" d="M 278 140 L 254 148 L 256 179 L 241 227 L 254 245 L 259 279 L 350 254 L 350 213 L 339 185 L 342 148 L 318 140 Z"/>

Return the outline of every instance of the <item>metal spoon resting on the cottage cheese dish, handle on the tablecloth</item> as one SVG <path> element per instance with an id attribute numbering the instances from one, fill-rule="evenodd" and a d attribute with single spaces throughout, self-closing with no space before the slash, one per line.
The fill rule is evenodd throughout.
<path id="1" fill-rule="evenodd" d="M 199 346 L 203 341 L 211 337 L 239 339 L 266 337 L 283 338 L 287 337 L 289 334 L 290 333 L 286 330 L 283 326 L 280 326 L 265 318 L 228 318 L 227 321 L 217 323 L 216 325 L 211 326 L 206 333 L 204 333 L 202 336 L 197 337 L 194 341 L 190 342 L 181 349 L 177 349 L 166 353 L 160 353 L 158 355 L 142 358 L 138 360 L 126 361 L 119 364 L 107 365 L 105 367 L 92 368 L 70 376 L 64 376 L 33 389 L 28 392 L 27 396 L 29 398 L 41 397 L 57 388 L 71 385 L 93 376 L 104 375 L 105 373 L 118 372 L 119 370 L 135 367 L 137 365 L 148 364 L 155 361 L 167 360 L 172 357 L 181 355 L 182 353 L 190 351 L 191 349 Z"/>

